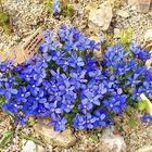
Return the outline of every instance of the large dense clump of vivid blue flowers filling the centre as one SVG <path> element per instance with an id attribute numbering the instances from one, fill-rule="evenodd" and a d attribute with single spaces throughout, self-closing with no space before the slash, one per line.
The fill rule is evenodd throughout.
<path id="1" fill-rule="evenodd" d="M 101 64 L 93 58 L 101 43 L 76 28 L 62 26 L 56 39 L 45 33 L 39 54 L 23 65 L 0 64 L 1 106 L 24 124 L 28 116 L 51 116 L 56 131 L 66 126 L 92 129 L 111 125 L 111 114 L 135 106 L 144 93 L 152 99 L 150 54 L 130 45 L 106 48 Z"/>

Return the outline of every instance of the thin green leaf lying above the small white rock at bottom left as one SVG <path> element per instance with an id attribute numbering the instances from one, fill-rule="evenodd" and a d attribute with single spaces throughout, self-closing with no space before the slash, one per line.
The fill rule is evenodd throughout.
<path id="1" fill-rule="evenodd" d="M 34 141 L 36 144 L 39 144 L 39 145 L 42 145 L 42 147 L 46 145 L 41 140 L 39 140 L 39 139 L 35 138 L 35 137 L 31 137 L 31 136 L 29 136 L 29 135 L 26 135 L 26 134 L 24 134 L 24 132 L 22 132 L 21 137 L 24 138 L 24 139 L 26 139 L 26 140 L 31 140 L 31 141 Z"/>

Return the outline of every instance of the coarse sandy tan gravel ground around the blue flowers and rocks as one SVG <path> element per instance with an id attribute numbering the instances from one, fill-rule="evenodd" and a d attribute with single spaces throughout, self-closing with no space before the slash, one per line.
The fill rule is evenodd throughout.
<path id="1" fill-rule="evenodd" d="M 94 3 L 102 3 L 102 1 L 93 0 Z M 38 0 L 4 0 L 4 9 L 11 14 L 13 18 L 13 33 L 11 35 L 5 35 L 3 29 L 0 27 L 0 50 L 7 51 L 13 46 L 17 46 L 20 42 L 24 41 L 26 37 L 35 31 L 39 26 L 45 29 L 58 29 L 60 25 L 75 26 L 80 28 L 80 30 L 87 33 L 90 36 L 99 35 L 94 29 L 88 26 L 88 15 L 85 10 L 88 4 L 88 0 L 73 0 L 73 5 L 76 10 L 75 15 L 68 20 L 63 16 L 56 16 L 53 18 L 50 14 L 45 11 L 43 4 L 40 4 Z M 123 9 L 129 13 L 127 18 L 124 18 L 116 14 L 117 9 Z M 140 45 L 143 43 L 144 33 L 152 27 L 152 10 L 147 14 L 137 13 L 136 11 L 128 8 L 128 5 L 121 7 L 119 1 L 115 3 L 115 9 L 113 11 L 113 20 L 109 27 L 107 33 L 113 36 L 114 29 L 118 28 L 131 28 L 134 38 L 137 38 Z M 24 140 L 21 137 L 21 128 L 18 125 L 11 123 L 11 119 L 5 114 L 0 114 L 0 138 L 2 134 L 7 130 L 15 130 L 14 138 L 12 142 L 3 150 L 3 152 L 21 152 Z M 134 113 L 137 124 L 134 127 L 128 125 L 127 114 L 123 115 L 123 118 L 118 118 L 117 122 L 119 127 L 117 128 L 118 134 L 121 132 L 127 144 L 127 152 L 135 152 L 135 150 L 149 143 L 152 144 L 152 125 L 141 124 L 139 121 L 140 114 Z M 31 132 L 35 136 L 33 128 L 24 128 L 25 134 Z M 98 145 L 98 142 L 90 140 L 89 137 L 92 132 L 77 132 L 79 138 L 78 143 L 69 149 L 69 152 L 84 151 L 91 152 Z M 101 132 L 93 132 L 99 138 Z M 49 148 L 46 149 L 47 151 Z M 55 148 L 54 151 L 61 151 L 61 149 Z"/>

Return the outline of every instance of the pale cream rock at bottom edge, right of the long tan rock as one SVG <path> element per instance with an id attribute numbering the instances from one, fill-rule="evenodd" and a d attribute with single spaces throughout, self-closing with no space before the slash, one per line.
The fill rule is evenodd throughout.
<path id="1" fill-rule="evenodd" d="M 126 143 L 121 135 L 114 135 L 113 128 L 106 128 L 100 138 L 101 152 L 125 152 Z"/>

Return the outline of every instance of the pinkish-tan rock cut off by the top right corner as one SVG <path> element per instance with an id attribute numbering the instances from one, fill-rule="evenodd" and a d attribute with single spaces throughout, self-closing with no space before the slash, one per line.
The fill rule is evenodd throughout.
<path id="1" fill-rule="evenodd" d="M 128 0 L 128 4 L 138 12 L 147 13 L 150 8 L 151 0 Z"/>

